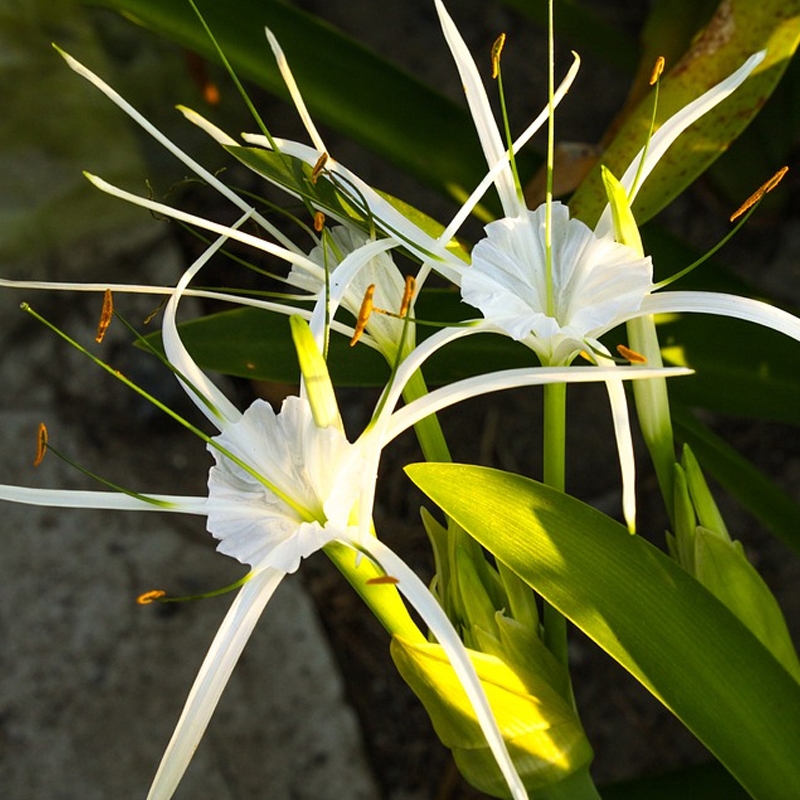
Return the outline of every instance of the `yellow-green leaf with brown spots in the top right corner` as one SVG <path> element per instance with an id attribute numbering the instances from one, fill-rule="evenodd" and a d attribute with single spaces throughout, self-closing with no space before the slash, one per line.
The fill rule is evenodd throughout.
<path id="1" fill-rule="evenodd" d="M 800 0 L 726 0 L 688 52 L 663 80 L 658 124 L 726 78 L 759 50 L 767 57 L 745 84 L 686 131 L 645 181 L 633 210 L 645 222 L 677 197 L 758 113 L 800 40 Z M 648 93 L 628 115 L 602 162 L 621 175 L 644 145 L 652 116 Z M 765 176 L 768 177 L 768 176 Z M 570 201 L 574 216 L 593 224 L 605 206 L 599 165 Z"/>

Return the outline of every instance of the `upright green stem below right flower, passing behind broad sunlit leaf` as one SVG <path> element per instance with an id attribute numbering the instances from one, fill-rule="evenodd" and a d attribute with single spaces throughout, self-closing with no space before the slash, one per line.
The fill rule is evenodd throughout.
<path id="1" fill-rule="evenodd" d="M 544 387 L 544 482 L 564 491 L 567 435 L 567 385 L 551 383 Z M 565 667 L 567 657 L 567 621 L 549 603 L 542 609 L 544 643 Z"/>

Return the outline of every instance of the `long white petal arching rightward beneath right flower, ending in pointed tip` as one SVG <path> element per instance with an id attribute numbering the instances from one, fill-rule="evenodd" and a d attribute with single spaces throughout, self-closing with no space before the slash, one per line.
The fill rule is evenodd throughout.
<path id="1" fill-rule="evenodd" d="M 468 400 L 471 397 L 497 392 L 502 389 L 514 389 L 520 386 L 542 386 L 546 383 L 609 383 L 623 380 L 646 380 L 647 378 L 676 378 L 691 375 L 692 370 L 680 367 L 646 369 L 644 367 L 619 367 L 614 370 L 603 367 L 523 367 L 519 369 L 501 370 L 435 389 L 403 406 L 392 414 L 390 422 L 384 429 L 381 438 L 382 446 L 386 446 L 395 436 L 408 430 L 421 419 L 448 408 L 451 405 Z"/>

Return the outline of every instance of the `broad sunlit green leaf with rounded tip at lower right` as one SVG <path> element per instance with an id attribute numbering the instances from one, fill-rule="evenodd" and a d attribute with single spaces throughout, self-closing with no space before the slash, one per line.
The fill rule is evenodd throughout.
<path id="1" fill-rule="evenodd" d="M 661 551 L 550 487 L 456 464 L 411 479 L 596 641 L 756 800 L 800 787 L 800 685 Z"/>

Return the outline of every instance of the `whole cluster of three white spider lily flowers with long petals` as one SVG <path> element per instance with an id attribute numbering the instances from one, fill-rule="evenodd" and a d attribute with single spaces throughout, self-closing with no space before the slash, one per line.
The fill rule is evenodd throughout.
<path id="1" fill-rule="evenodd" d="M 566 94 L 577 72 L 577 59 L 567 78 L 554 92 L 552 102 L 507 150 L 472 57 L 440 0 L 436 0 L 436 9 L 461 75 L 487 161 L 484 180 L 451 223 L 438 234 L 431 234 L 428 228 L 405 216 L 330 156 L 305 108 L 277 41 L 268 34 L 312 146 L 261 135 L 247 135 L 246 141 L 268 150 L 276 149 L 280 157 L 305 162 L 315 170 L 315 179 L 330 182 L 334 193 L 338 192 L 347 201 L 346 205 L 357 210 L 358 218 L 343 213 L 341 208 L 316 202 L 313 193 L 310 196 L 306 193 L 305 186 L 288 187 L 308 203 L 311 211 L 322 211 L 338 223 L 330 230 L 322 226 L 310 252 L 298 247 L 249 203 L 166 139 L 101 79 L 62 53 L 76 72 L 103 91 L 244 214 L 236 225 L 222 226 L 124 192 L 101 178 L 88 176 L 98 188 L 109 194 L 211 231 L 219 237 L 175 287 L 118 287 L 169 296 L 163 324 L 167 359 L 187 394 L 218 432 L 214 437 L 200 434 L 215 462 L 209 473 L 208 495 L 144 496 L 0 486 L 0 499 L 13 502 L 60 507 L 158 509 L 205 516 L 208 530 L 219 541 L 218 550 L 250 567 L 248 578 L 220 626 L 186 701 L 151 787 L 149 797 L 153 800 L 172 795 L 237 659 L 275 589 L 287 574 L 300 567 L 304 558 L 320 549 L 324 549 L 340 569 L 347 572 L 392 634 L 396 660 L 405 665 L 404 674 L 412 686 L 419 679 L 419 686 L 423 688 L 418 693 L 420 696 L 426 693 L 423 702 L 429 709 L 435 709 L 431 715 L 439 718 L 442 729 L 452 732 L 454 726 L 458 728 L 460 723 L 454 723 L 450 715 L 457 719 L 463 718 L 465 713 L 474 715 L 473 723 L 467 726 L 463 736 L 460 735 L 463 731 L 457 731 L 459 735 L 453 739 L 458 744 L 453 746 L 474 749 L 473 729 L 480 727 L 480 735 L 488 742 L 490 756 L 487 758 L 496 763 L 502 776 L 498 780 L 487 780 L 487 790 L 497 793 L 510 791 L 514 798 L 523 798 L 527 796 L 526 788 L 539 788 L 542 773 L 547 776 L 544 780 L 554 782 L 571 770 L 585 769 L 591 759 L 591 749 L 585 742 L 577 718 L 570 718 L 573 712 L 568 677 L 564 678 L 562 672 L 565 670 L 561 669 L 562 665 L 555 664 L 549 651 L 542 657 L 542 663 L 546 662 L 545 679 L 533 670 L 520 678 L 525 668 L 514 665 L 519 669 L 514 671 L 516 678 L 513 680 L 520 678 L 527 695 L 536 695 L 535 703 L 531 703 L 538 704 L 537 714 L 541 719 L 537 717 L 537 725 L 541 720 L 545 721 L 539 725 L 540 728 L 546 727 L 548 715 L 554 714 L 559 720 L 569 719 L 564 729 L 569 746 L 564 744 L 561 754 L 553 755 L 559 748 L 553 746 L 550 739 L 546 740 L 547 746 L 542 747 L 543 740 L 539 728 L 536 728 L 532 734 L 535 741 L 530 749 L 523 747 L 521 757 L 515 760 L 509 756 L 507 744 L 515 735 L 517 719 L 508 723 L 509 732 L 498 715 L 493 714 L 484 692 L 487 685 L 497 685 L 498 681 L 513 683 L 505 676 L 508 665 L 501 661 L 498 666 L 488 656 L 476 660 L 467 653 L 462 638 L 468 639 L 468 644 L 480 647 L 484 656 L 489 653 L 497 658 L 503 654 L 501 640 L 516 641 L 515 637 L 520 641 L 528 637 L 533 646 L 544 648 L 536 638 L 538 634 L 532 632 L 538 628 L 538 622 L 528 619 L 527 628 L 514 627 L 519 620 L 512 619 L 515 601 L 513 592 L 509 590 L 503 595 L 511 606 L 508 618 L 502 609 L 492 606 L 487 600 L 485 608 L 475 613 L 484 615 L 487 620 L 495 614 L 502 619 L 489 620 L 485 627 L 474 619 L 467 619 L 456 632 L 442 608 L 446 604 L 440 604 L 373 530 L 376 475 L 382 449 L 408 428 L 469 397 L 517 386 L 603 382 L 608 388 L 614 412 L 626 487 L 625 514 L 632 525 L 633 456 L 622 381 L 663 379 L 669 375 L 686 374 L 687 370 L 617 367 L 600 337 L 624 322 L 653 313 L 700 311 L 749 319 L 800 340 L 800 322 L 763 303 L 709 293 L 654 293 L 657 287 L 652 280 L 651 261 L 641 246 L 637 246 L 636 238 L 625 234 L 627 228 L 620 223 L 620 219 L 629 214 L 630 201 L 641 182 L 666 149 L 693 121 L 740 86 L 756 69 L 762 54 L 748 59 L 728 79 L 691 103 L 656 132 L 649 147 L 639 153 L 618 182 L 623 199 L 610 191 L 609 207 L 597 226 L 591 229 L 570 218 L 566 206 L 559 203 L 548 202 L 538 209 L 527 209 L 512 169 L 513 154 L 547 120 Z M 238 148 L 234 140 L 193 112 L 184 110 L 184 113 L 232 152 L 243 157 L 245 163 L 253 165 L 244 157 L 245 150 Z M 274 180 L 268 172 L 265 177 Z M 499 194 L 504 217 L 487 225 L 484 238 L 465 260 L 450 248 L 451 240 L 492 185 Z M 265 235 L 243 232 L 240 226 L 245 220 L 254 221 Z M 254 305 L 291 316 L 301 363 L 302 391 L 299 397 L 288 398 L 277 414 L 268 404 L 258 400 L 244 412 L 239 411 L 195 363 L 178 332 L 176 317 L 181 298 L 189 293 L 212 294 L 193 290 L 190 284 L 228 239 L 238 240 L 290 264 L 289 283 L 308 291 L 316 299 L 313 311 L 305 313 L 310 320 L 309 327 L 296 316 L 298 309 L 288 302 L 216 295 L 232 303 Z M 391 256 L 391 251 L 398 248 L 420 262 L 416 276 L 418 287 L 423 285 L 429 272 L 435 270 L 460 287 L 463 300 L 479 309 L 483 319 L 444 328 L 416 344 L 409 284 L 404 282 Z M 27 285 L 31 288 L 41 286 Z M 106 286 L 61 288 L 97 290 Z M 377 307 L 398 312 L 394 316 L 373 315 L 359 320 L 359 327 L 366 330 L 362 341 L 378 349 L 393 369 L 369 425 L 351 441 L 342 426 L 322 352 L 331 331 L 348 336 L 356 333 L 352 326 L 337 321 L 336 313 L 341 305 L 354 317 L 361 316 L 365 294 Z M 490 372 L 430 393 L 419 393 L 414 381 L 426 360 L 451 342 L 476 332 L 506 335 L 523 342 L 538 356 L 541 366 Z M 571 366 L 580 352 L 588 352 L 594 365 Z M 412 386 L 417 388 L 409 391 Z M 401 395 L 405 396 L 407 404 L 398 408 Z M 436 446 L 429 443 L 429 449 L 435 451 Z M 451 532 L 443 535 L 448 533 Z M 505 579 L 500 571 L 492 573 L 488 582 Z M 512 580 L 511 576 L 508 579 Z M 475 585 L 479 583 L 480 580 Z M 435 644 L 425 641 L 425 636 L 411 620 L 403 599 L 419 612 L 435 637 Z M 519 604 L 520 608 L 523 606 L 524 602 Z M 477 609 L 477 604 L 473 608 Z M 469 611 L 466 615 L 469 617 Z M 524 616 L 524 611 L 521 616 Z M 459 634 L 462 634 L 461 638 Z M 444 661 L 467 698 L 455 711 L 449 707 L 439 710 L 442 704 L 438 701 L 447 699 L 447 687 L 452 684 L 450 674 L 445 677 L 441 672 Z M 428 674 L 439 677 L 420 677 Z M 498 678 L 501 674 L 505 677 Z M 437 681 L 441 681 L 441 686 L 437 686 Z M 536 691 L 532 687 L 537 687 Z M 503 688 L 507 686 L 504 684 Z M 516 689 L 509 691 L 513 694 Z M 550 695 L 552 703 L 548 705 L 542 697 Z M 465 712 L 464 708 L 469 710 Z M 563 751 L 570 748 L 576 753 L 574 759 L 570 761 L 567 758 L 563 767 L 554 768 L 553 764 L 557 764 Z M 545 751 L 549 755 L 542 755 Z M 532 755 L 534 752 L 535 756 Z M 527 776 L 520 778 L 517 772 L 518 764 L 526 758 L 535 761 L 537 774 L 531 781 Z M 547 761 L 548 758 L 551 760 Z M 485 761 L 480 764 L 481 772 L 489 769 Z M 469 771 L 469 768 L 465 767 L 465 770 Z M 481 779 L 476 777 L 475 780 L 480 783 Z"/>

